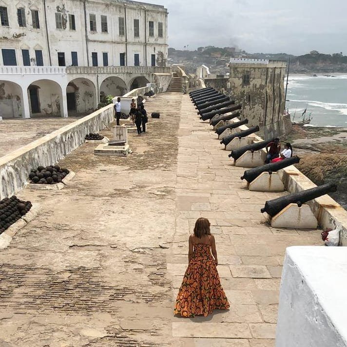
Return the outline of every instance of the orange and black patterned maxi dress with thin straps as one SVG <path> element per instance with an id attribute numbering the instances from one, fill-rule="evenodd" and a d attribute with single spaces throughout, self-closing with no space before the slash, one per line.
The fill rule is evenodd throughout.
<path id="1" fill-rule="evenodd" d="M 215 308 L 230 307 L 220 284 L 210 244 L 194 243 L 193 255 L 177 294 L 175 314 L 183 317 L 206 317 Z"/>

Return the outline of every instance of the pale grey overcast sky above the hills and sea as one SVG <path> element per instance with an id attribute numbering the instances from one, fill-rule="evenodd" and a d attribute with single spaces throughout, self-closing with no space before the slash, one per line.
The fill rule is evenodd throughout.
<path id="1" fill-rule="evenodd" d="M 346 0 L 146 0 L 169 12 L 169 46 L 347 55 Z"/>

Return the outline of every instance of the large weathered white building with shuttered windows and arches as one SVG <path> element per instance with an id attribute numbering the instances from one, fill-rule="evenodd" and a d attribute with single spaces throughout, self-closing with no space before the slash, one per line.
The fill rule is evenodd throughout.
<path id="1" fill-rule="evenodd" d="M 1 0 L 0 116 L 67 116 L 170 74 L 167 9 L 127 0 Z"/>

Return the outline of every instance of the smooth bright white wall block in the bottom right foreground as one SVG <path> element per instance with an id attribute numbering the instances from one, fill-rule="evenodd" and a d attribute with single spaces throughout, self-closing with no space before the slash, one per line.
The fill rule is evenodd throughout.
<path id="1" fill-rule="evenodd" d="M 345 248 L 287 248 L 276 347 L 346 347 L 346 285 Z"/>

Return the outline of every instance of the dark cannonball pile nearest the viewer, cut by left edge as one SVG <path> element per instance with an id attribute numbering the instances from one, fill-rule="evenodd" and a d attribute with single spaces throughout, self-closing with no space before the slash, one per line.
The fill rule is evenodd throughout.
<path id="1" fill-rule="evenodd" d="M 0 234 L 19 220 L 32 206 L 30 201 L 19 200 L 16 195 L 0 200 Z"/>

